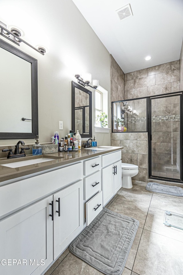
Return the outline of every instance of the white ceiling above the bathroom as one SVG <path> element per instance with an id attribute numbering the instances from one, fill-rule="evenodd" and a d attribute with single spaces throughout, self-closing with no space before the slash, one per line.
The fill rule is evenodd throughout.
<path id="1" fill-rule="evenodd" d="M 124 73 L 180 58 L 183 0 L 72 1 Z M 116 10 L 129 3 L 133 16 L 120 20 Z"/>

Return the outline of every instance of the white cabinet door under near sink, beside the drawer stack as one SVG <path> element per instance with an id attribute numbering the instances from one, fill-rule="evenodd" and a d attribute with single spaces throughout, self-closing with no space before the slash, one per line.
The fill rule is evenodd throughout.
<path id="1" fill-rule="evenodd" d="M 53 199 L 55 259 L 83 229 L 83 181 L 55 193 Z"/>

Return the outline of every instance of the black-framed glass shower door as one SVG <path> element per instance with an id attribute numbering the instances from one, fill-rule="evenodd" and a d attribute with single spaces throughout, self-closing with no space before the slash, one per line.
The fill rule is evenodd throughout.
<path id="1" fill-rule="evenodd" d="M 150 103 L 150 177 L 181 180 L 182 95 L 156 97 Z"/>

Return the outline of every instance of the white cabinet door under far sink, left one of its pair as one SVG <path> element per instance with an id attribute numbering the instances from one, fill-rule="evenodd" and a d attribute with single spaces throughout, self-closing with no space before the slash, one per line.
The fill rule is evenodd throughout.
<path id="1" fill-rule="evenodd" d="M 102 191 L 103 191 L 103 205 L 114 195 L 114 169 L 113 164 L 102 169 Z"/>

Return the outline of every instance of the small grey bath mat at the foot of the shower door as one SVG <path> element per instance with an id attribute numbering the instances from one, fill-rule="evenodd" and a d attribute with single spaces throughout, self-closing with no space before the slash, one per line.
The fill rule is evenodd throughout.
<path id="1" fill-rule="evenodd" d="M 146 186 L 146 190 L 152 191 L 152 192 L 157 192 L 157 193 L 162 193 L 162 194 L 167 194 L 167 195 L 183 197 L 183 189 L 182 188 L 177 187 L 177 186 L 160 184 L 160 183 L 156 183 L 156 182 L 148 182 L 148 184 Z"/>

